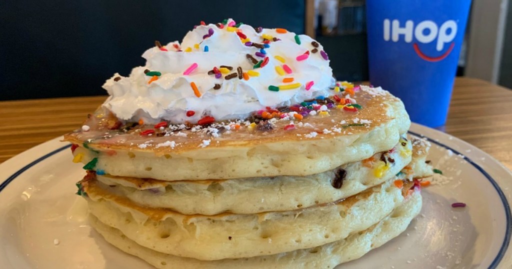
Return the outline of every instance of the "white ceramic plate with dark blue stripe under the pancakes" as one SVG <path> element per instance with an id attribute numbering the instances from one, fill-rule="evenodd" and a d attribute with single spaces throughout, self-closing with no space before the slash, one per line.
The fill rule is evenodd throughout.
<path id="1" fill-rule="evenodd" d="M 443 171 L 406 232 L 339 268 L 512 268 L 512 174 L 470 144 L 414 125 Z M 0 165 L 0 268 L 147 268 L 106 243 L 76 196 L 84 171 L 59 138 Z M 453 202 L 465 202 L 454 209 Z"/>

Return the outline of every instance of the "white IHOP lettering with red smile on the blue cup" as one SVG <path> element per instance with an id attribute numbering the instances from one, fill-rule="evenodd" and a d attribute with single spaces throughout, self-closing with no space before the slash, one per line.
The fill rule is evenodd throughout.
<path id="1" fill-rule="evenodd" d="M 416 26 L 412 20 L 407 20 L 405 24 L 401 24 L 398 19 L 393 19 L 393 21 L 384 20 L 384 40 L 398 42 L 403 36 L 406 43 L 411 43 L 414 37 L 414 51 L 420 58 L 427 61 L 440 61 L 446 58 L 455 46 L 453 40 L 456 35 L 457 23 L 455 20 L 446 20 L 441 26 L 438 26 L 432 20 L 423 20 Z M 436 51 L 441 54 L 438 56 L 426 55 L 421 51 L 418 43 L 435 44 Z"/>

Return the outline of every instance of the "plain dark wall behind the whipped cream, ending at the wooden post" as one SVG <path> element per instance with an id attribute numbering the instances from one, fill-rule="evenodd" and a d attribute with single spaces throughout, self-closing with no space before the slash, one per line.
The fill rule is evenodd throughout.
<path id="1" fill-rule="evenodd" d="M 272 7 L 272 8 L 269 8 Z M 237 22 L 304 33 L 305 2 L 13 1 L 0 4 L 0 100 L 105 94 L 115 72 L 198 25 Z"/>

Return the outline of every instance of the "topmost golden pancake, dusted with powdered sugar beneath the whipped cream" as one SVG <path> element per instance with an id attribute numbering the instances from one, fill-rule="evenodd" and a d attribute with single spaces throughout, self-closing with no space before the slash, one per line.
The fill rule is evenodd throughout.
<path id="1" fill-rule="evenodd" d="M 89 131 L 76 130 L 65 141 L 79 146 L 74 154 L 82 154 L 77 157 L 82 162 L 97 158 L 88 169 L 116 176 L 171 181 L 306 176 L 389 150 L 409 129 L 402 102 L 389 92 L 361 87 L 351 98 L 362 107 L 357 112 L 335 106 L 328 115 L 272 119 L 271 130 L 237 120 L 123 131 L 127 123 L 100 108 L 84 123 Z M 295 128 L 285 130 L 291 123 Z M 141 135 L 146 130 L 156 133 Z"/>

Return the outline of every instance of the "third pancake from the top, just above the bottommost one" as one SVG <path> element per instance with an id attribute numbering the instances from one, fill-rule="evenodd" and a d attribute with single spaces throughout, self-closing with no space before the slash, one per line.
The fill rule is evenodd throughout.
<path id="1" fill-rule="evenodd" d="M 401 186 L 388 181 L 301 210 L 202 216 L 143 208 L 101 189 L 94 178 L 82 181 L 82 186 L 90 198 L 90 213 L 101 222 L 145 247 L 200 260 L 271 255 L 340 240 L 368 229 L 403 200 Z"/>

